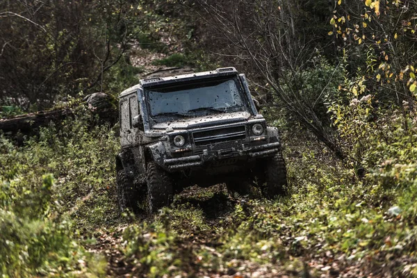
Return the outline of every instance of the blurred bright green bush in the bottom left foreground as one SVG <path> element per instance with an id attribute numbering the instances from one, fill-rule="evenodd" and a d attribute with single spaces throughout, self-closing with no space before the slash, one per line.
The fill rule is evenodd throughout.
<path id="1" fill-rule="evenodd" d="M 51 202 L 51 174 L 44 175 L 41 186 L 23 180 L 16 177 L 0 186 L 1 275 L 104 275 L 102 258 L 76 243 L 70 220 Z"/>

